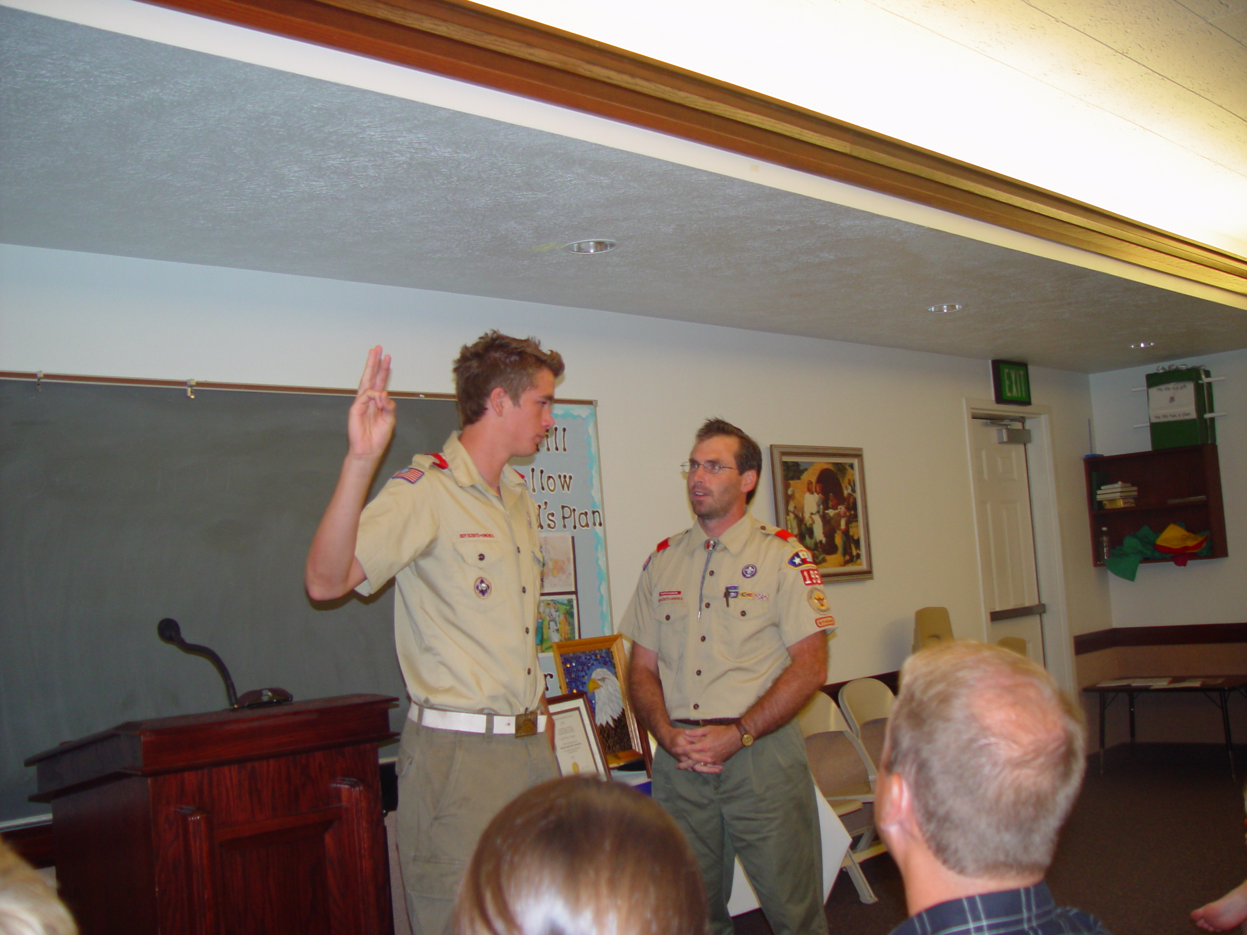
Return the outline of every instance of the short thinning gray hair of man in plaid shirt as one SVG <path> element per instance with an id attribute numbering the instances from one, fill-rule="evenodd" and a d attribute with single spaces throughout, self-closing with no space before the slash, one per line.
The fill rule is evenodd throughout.
<path id="1" fill-rule="evenodd" d="M 1047 870 L 1082 782 L 1082 711 L 1018 653 L 959 640 L 910 656 L 883 767 L 927 845 L 965 876 Z"/>

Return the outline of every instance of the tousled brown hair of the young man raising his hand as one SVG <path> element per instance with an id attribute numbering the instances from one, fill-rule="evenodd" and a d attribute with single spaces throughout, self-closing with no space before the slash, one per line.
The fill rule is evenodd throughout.
<path id="1" fill-rule="evenodd" d="M 464 344 L 454 364 L 459 423 L 468 426 L 480 419 L 495 386 L 506 390 L 519 405 L 524 390 L 532 386 L 534 374 L 541 369 L 562 376 L 562 357 L 557 350 L 541 350 L 536 338 L 513 338 L 491 330 L 475 343 Z"/>

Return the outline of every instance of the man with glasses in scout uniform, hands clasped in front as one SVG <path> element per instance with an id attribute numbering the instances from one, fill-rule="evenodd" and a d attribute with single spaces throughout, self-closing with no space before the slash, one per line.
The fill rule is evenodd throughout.
<path id="1" fill-rule="evenodd" d="M 697 524 L 658 544 L 620 631 L 628 688 L 662 749 L 653 797 L 688 837 L 712 935 L 731 935 L 741 858 L 776 935 L 826 935 L 814 783 L 793 721 L 827 677 L 835 621 L 809 552 L 747 514 L 762 453 L 734 425 L 697 431 L 687 476 Z"/>

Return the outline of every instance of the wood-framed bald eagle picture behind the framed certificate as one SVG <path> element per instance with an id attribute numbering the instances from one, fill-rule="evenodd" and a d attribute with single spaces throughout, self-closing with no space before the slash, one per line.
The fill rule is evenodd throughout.
<path id="1" fill-rule="evenodd" d="M 594 712 L 594 726 L 606 752 L 606 763 L 620 767 L 645 760 L 650 772 L 650 741 L 636 721 L 627 694 L 627 654 L 624 637 L 595 636 L 554 645 L 559 688 L 584 692 Z"/>

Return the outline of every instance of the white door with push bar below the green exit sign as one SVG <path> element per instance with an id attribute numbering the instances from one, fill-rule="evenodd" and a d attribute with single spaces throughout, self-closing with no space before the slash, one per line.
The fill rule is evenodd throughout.
<path id="1" fill-rule="evenodd" d="M 989 611 L 990 642 L 1018 637 L 1026 654 L 1044 664 L 1044 631 L 1035 572 L 1035 535 L 1030 516 L 1026 445 L 1001 441 L 1004 429 L 1024 420 L 970 419 L 974 469 L 974 519 L 979 531 L 983 597 Z"/>

